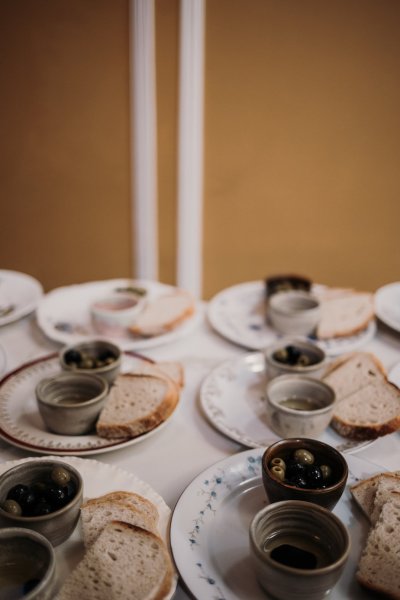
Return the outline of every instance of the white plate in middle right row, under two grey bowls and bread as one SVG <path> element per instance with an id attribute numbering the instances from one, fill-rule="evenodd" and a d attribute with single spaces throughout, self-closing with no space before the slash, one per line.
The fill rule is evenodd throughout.
<path id="1" fill-rule="evenodd" d="M 230 359 L 205 378 L 200 390 L 201 406 L 221 433 L 247 448 L 265 448 L 280 439 L 266 418 L 266 383 L 261 352 Z M 374 442 L 347 440 L 330 427 L 318 439 L 341 452 L 356 452 Z"/>

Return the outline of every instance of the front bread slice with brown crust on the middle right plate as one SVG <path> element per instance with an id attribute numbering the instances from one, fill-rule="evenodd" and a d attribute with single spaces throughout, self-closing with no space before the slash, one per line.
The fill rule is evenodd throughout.
<path id="1" fill-rule="evenodd" d="M 386 379 L 368 385 L 335 404 L 331 427 L 354 440 L 376 439 L 400 429 L 400 390 Z"/>

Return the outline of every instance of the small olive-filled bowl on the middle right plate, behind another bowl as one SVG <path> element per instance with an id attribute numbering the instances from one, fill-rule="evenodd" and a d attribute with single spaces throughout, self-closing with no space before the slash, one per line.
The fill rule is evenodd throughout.
<path id="1" fill-rule="evenodd" d="M 299 337 L 283 337 L 264 351 L 268 379 L 278 375 L 299 374 L 320 377 L 326 369 L 322 348 Z"/>

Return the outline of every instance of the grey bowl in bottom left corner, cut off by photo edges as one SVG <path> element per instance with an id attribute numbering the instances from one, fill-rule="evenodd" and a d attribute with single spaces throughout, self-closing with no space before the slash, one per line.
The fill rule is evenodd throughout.
<path id="1" fill-rule="evenodd" d="M 36 531 L 0 530 L 0 598 L 51 600 L 56 582 L 53 546 Z"/>

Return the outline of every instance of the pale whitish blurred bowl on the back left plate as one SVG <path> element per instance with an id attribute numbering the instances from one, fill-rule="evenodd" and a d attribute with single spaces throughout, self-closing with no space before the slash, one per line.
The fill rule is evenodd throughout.
<path id="1" fill-rule="evenodd" d="M 101 335 L 123 335 L 146 305 L 146 297 L 114 293 L 96 300 L 90 313 L 94 328 Z"/>

